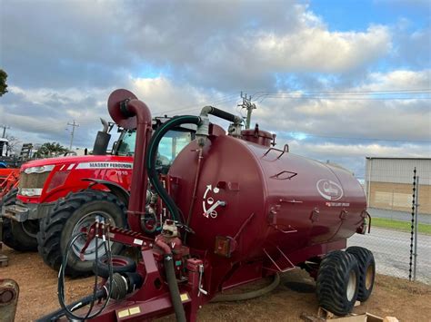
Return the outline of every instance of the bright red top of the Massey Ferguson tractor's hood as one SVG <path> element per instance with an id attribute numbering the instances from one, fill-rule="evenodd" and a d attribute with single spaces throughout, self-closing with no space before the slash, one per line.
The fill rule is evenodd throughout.
<path id="1" fill-rule="evenodd" d="M 85 164 L 88 167 L 91 167 L 92 163 L 95 164 L 95 168 L 100 168 L 100 163 L 102 164 L 102 168 L 110 168 L 112 163 L 118 164 L 118 162 L 125 163 L 133 163 L 133 157 L 123 157 L 123 156 L 114 156 L 114 155 L 85 155 L 85 156 L 68 156 L 68 157 L 58 157 L 58 158 L 49 158 L 49 159 L 40 159 L 34 161 L 28 161 L 21 166 L 21 171 L 25 171 L 27 168 L 33 167 L 43 167 L 46 165 L 68 165 L 75 168 L 78 164 Z M 130 167 L 132 164 L 130 164 Z M 113 166 L 113 168 L 116 168 Z"/>

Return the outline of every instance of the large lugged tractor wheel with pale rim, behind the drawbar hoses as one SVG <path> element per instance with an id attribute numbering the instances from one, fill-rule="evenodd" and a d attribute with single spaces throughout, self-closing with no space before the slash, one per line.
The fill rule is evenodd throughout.
<path id="1" fill-rule="evenodd" d="M 83 228 L 89 228 L 95 222 L 96 216 L 102 216 L 116 227 L 126 227 L 125 204 L 115 195 L 100 190 L 82 190 L 69 193 L 60 200 L 54 210 L 43 220 L 40 220 L 40 230 L 37 234 L 39 254 L 45 263 L 57 270 L 62 263 L 65 248 L 69 240 Z M 85 236 L 75 240 L 69 249 L 65 274 L 71 277 L 86 276 L 92 273 L 95 260 L 95 239 L 85 250 L 84 261 L 79 258 L 85 244 Z M 122 244 L 111 243 L 113 254 L 119 254 Z M 105 255 L 102 239 L 99 239 L 97 255 Z"/>

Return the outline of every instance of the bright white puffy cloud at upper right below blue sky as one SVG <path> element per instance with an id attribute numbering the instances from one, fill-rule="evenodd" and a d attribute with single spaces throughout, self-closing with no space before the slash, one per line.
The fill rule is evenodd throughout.
<path id="1" fill-rule="evenodd" d="M 386 55 L 391 36 L 384 26 L 365 33 L 304 27 L 295 34 L 262 34 L 255 46 L 259 63 L 274 72 L 345 73 Z"/>

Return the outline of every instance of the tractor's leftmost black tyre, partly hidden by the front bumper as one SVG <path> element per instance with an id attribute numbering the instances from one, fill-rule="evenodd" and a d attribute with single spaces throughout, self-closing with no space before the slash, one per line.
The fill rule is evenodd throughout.
<path id="1" fill-rule="evenodd" d="M 0 203 L 0 210 L 3 206 L 15 205 L 17 192 L 18 190 L 15 188 L 5 194 Z M 6 246 L 19 251 L 37 250 L 36 234 L 39 230 L 39 220 L 18 222 L 3 217 L 2 229 L 2 241 Z"/>

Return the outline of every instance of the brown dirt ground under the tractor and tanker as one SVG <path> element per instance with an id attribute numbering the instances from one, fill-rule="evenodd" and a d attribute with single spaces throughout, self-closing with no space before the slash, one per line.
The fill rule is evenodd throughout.
<path id="1" fill-rule="evenodd" d="M 59 307 L 57 272 L 46 267 L 37 253 L 19 253 L 5 246 L 3 253 L 9 257 L 9 266 L 0 268 L 0 278 L 13 278 L 20 287 L 15 321 L 32 321 Z M 67 280 L 69 303 L 90 294 L 92 283 L 93 278 Z M 377 275 L 371 298 L 355 307 L 354 312 L 393 316 L 400 321 L 431 321 L 430 303 L 431 286 Z M 242 302 L 206 305 L 199 311 L 198 320 L 301 321 L 302 313 L 316 314 L 317 307 L 313 279 L 295 269 L 283 274 L 279 287 L 271 294 Z M 172 320 L 173 316 L 160 319 Z"/>

